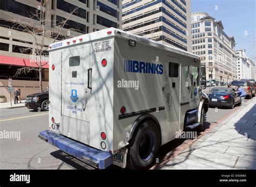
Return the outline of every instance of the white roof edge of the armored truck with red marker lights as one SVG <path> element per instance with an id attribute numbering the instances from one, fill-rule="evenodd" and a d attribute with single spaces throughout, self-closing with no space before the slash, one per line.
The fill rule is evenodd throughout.
<path id="1" fill-rule="evenodd" d="M 197 55 L 194 55 L 193 53 L 186 52 L 183 49 L 180 49 L 180 48 L 177 48 L 177 47 L 174 47 L 171 45 L 161 44 L 158 41 L 154 41 L 154 40 L 148 39 L 146 37 L 132 34 L 130 32 L 122 31 L 122 30 L 119 30 L 118 28 L 114 28 L 114 27 L 105 28 L 104 30 L 91 32 L 88 34 L 79 35 L 78 37 L 73 37 L 73 38 L 69 38 L 66 40 L 55 42 L 53 44 L 50 44 L 49 51 L 53 51 L 53 50 L 55 51 L 56 49 L 60 49 L 63 47 L 79 45 L 79 44 L 82 44 L 82 43 L 85 43 L 88 41 L 99 40 L 99 39 L 109 38 L 109 37 L 127 38 L 127 39 L 141 42 L 141 43 L 149 45 L 149 46 L 154 46 L 157 48 L 165 49 L 166 51 L 170 51 L 170 52 L 177 53 L 177 54 L 183 54 L 186 56 L 190 56 L 190 57 L 199 59 L 199 57 Z"/>

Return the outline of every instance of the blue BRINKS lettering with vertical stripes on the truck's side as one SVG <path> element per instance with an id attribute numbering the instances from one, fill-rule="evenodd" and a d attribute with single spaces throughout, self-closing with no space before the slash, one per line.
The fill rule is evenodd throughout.
<path id="1" fill-rule="evenodd" d="M 162 64 L 142 62 L 136 60 L 124 60 L 124 71 L 144 74 L 163 74 L 164 67 Z"/>

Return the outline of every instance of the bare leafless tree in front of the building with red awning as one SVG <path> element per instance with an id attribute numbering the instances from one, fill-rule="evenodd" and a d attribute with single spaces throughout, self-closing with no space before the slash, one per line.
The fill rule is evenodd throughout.
<path id="1" fill-rule="evenodd" d="M 53 43 L 60 39 L 68 39 L 73 37 L 73 35 L 70 34 L 70 31 L 78 31 L 76 28 L 71 28 L 67 24 L 67 21 L 70 19 L 71 15 L 80 7 L 72 10 L 64 20 L 58 20 L 56 21 L 56 24 L 53 24 L 52 20 L 49 19 L 49 15 L 51 13 L 49 4 L 49 0 L 42 0 L 41 5 L 37 6 L 36 12 L 29 12 L 30 18 L 14 17 L 14 20 L 11 20 L 15 23 L 12 27 L 19 27 L 21 28 L 22 32 L 28 33 L 31 36 L 33 44 L 35 44 L 34 49 L 24 47 L 21 49 L 21 53 L 29 54 L 30 62 L 35 62 L 36 67 L 25 66 L 18 68 L 15 76 L 20 74 L 27 74 L 33 70 L 37 71 L 39 75 L 39 88 L 41 92 L 43 91 L 42 70 L 43 67 L 48 63 L 47 50 L 49 49 L 49 46 L 45 47 L 45 40 L 49 41 L 49 39 L 51 39 L 51 43 Z M 69 28 L 68 32 L 63 34 L 66 28 Z M 81 31 L 79 32 L 81 33 Z"/>

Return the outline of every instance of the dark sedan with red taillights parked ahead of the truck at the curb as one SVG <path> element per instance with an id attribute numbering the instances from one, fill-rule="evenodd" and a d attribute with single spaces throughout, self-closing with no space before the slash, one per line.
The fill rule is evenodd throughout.
<path id="1" fill-rule="evenodd" d="M 228 107 L 233 109 L 236 104 L 241 103 L 238 93 L 232 88 L 217 87 L 211 89 L 208 94 L 209 106 Z"/>

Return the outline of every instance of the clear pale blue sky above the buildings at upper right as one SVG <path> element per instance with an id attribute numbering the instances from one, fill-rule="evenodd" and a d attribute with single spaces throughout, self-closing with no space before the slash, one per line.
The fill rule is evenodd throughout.
<path id="1" fill-rule="evenodd" d="M 255 0 L 191 0 L 191 13 L 198 11 L 221 20 L 224 32 L 234 36 L 235 49 L 245 49 L 247 57 L 256 63 Z"/>

